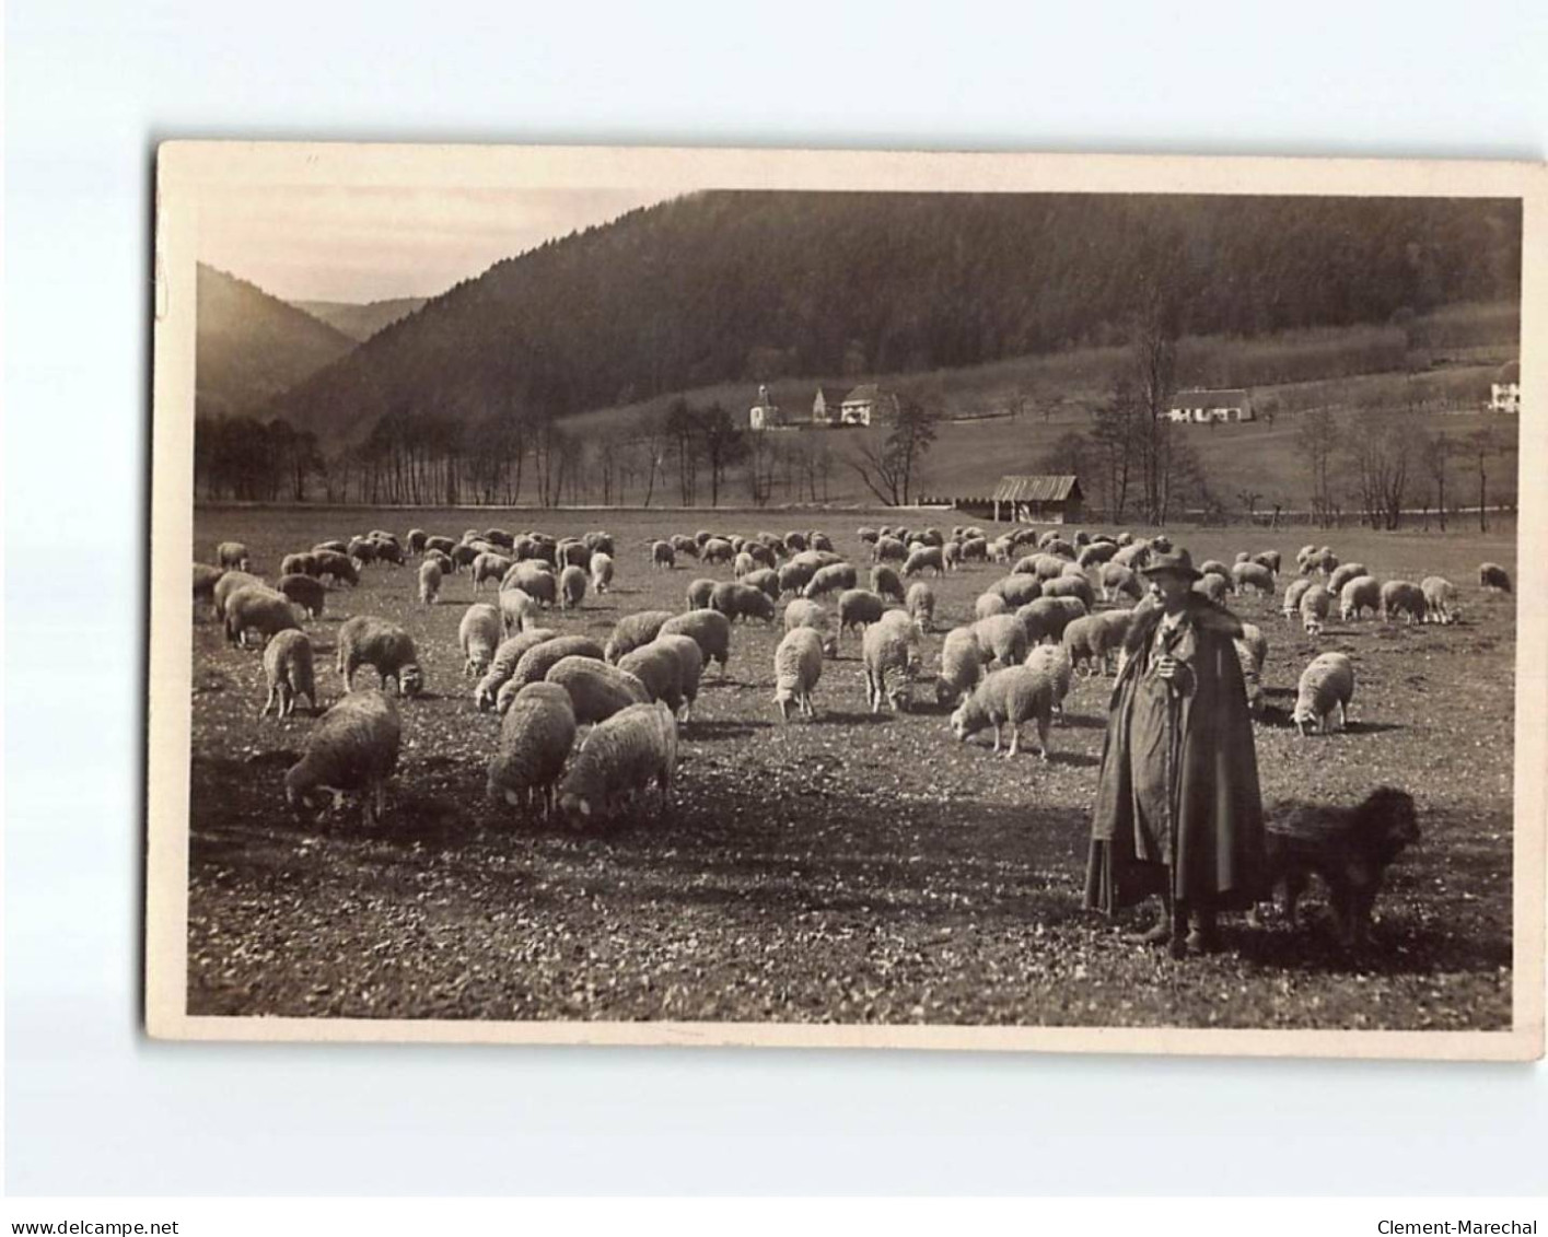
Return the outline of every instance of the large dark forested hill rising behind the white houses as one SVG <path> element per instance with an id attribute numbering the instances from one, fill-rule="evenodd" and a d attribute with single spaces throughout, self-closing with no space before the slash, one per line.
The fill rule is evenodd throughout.
<path id="1" fill-rule="evenodd" d="M 1519 271 L 1514 201 L 704 192 L 497 263 L 269 412 L 341 441 L 972 365 L 1122 338 L 1147 272 L 1183 331 L 1254 334 L 1515 299 Z"/>

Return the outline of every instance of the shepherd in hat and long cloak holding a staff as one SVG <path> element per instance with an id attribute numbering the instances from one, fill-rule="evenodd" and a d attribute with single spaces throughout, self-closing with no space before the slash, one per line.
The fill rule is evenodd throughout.
<path id="1" fill-rule="evenodd" d="M 1249 910 L 1263 872 L 1263 797 L 1232 641 L 1241 624 L 1195 593 L 1186 550 L 1144 568 L 1124 641 L 1091 817 L 1085 903 L 1115 915 L 1152 895 L 1141 940 L 1175 958 L 1220 947 L 1217 913 Z"/>

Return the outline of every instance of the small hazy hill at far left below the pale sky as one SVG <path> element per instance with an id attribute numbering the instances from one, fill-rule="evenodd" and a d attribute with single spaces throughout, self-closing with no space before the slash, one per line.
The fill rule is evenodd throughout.
<path id="1" fill-rule="evenodd" d="M 254 283 L 198 266 L 195 410 L 255 413 L 337 361 L 354 341 Z"/>

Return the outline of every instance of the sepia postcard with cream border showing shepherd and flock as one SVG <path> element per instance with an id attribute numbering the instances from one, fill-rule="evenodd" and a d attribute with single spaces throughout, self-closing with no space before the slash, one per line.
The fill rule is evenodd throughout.
<path id="1" fill-rule="evenodd" d="M 163 146 L 149 1031 L 1540 1056 L 1545 190 Z"/>

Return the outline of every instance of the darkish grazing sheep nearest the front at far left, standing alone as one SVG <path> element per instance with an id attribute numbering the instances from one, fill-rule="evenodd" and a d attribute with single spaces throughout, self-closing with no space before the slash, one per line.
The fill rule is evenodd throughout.
<path id="1" fill-rule="evenodd" d="M 285 802 L 297 814 L 316 811 L 314 793 L 359 791 L 365 827 L 387 807 L 387 779 L 398 768 L 402 723 L 385 692 L 347 695 L 317 718 L 302 759 L 285 774 Z"/>

